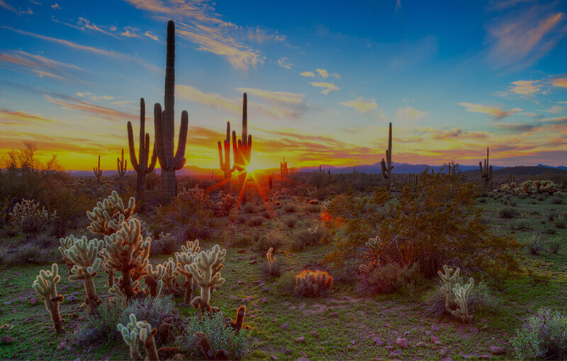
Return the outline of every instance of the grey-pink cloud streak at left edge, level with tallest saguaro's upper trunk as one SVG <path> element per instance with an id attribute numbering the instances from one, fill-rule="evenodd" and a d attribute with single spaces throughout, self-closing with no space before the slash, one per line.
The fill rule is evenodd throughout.
<path id="1" fill-rule="evenodd" d="M 32 55 L 21 50 L 11 53 L 0 53 L 0 62 L 15 64 L 25 71 L 31 71 L 40 77 L 47 76 L 54 79 L 67 80 L 72 78 L 69 71 L 82 71 L 81 68 L 63 62 L 57 62 L 40 55 Z"/>

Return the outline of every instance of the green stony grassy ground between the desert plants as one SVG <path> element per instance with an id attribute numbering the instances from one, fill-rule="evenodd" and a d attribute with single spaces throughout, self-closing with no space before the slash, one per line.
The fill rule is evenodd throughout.
<path id="1" fill-rule="evenodd" d="M 499 217 L 504 198 L 495 200 L 485 197 L 479 203 L 485 210 L 485 219 L 493 231 L 500 234 L 514 234 L 518 241 L 524 242 L 534 234 L 541 234 L 544 248 L 554 238 L 561 239 L 562 249 L 551 253 L 545 249 L 533 255 L 522 248 L 519 255 L 521 263 L 529 266 L 541 276 L 549 277 L 549 282 L 534 285 L 531 277 L 508 280 L 493 290 L 502 306 L 495 312 L 478 311 L 471 325 L 461 325 L 449 319 L 435 319 L 427 316 L 426 295 L 422 289 L 408 289 L 397 294 L 380 295 L 374 298 L 357 296 L 352 284 L 336 282 L 332 292 L 317 299 L 298 298 L 287 294 L 289 287 L 282 287 L 277 279 L 266 278 L 260 269 L 265 262 L 263 256 L 252 247 L 228 248 L 223 277 L 226 282 L 213 292 L 212 303 L 234 316 L 235 310 L 244 302 L 247 306 L 247 323 L 254 329 L 254 347 L 249 359 L 269 359 L 272 355 L 279 359 L 427 359 L 436 360 L 451 357 L 454 360 L 468 358 L 469 355 L 489 354 L 490 346 L 505 346 L 510 350 L 509 341 L 521 326 L 523 319 L 540 306 L 562 309 L 567 302 L 567 229 L 558 228 L 549 221 L 551 213 L 566 214 L 566 204 L 555 204 L 551 197 L 545 200 L 513 200 L 518 216 L 513 219 Z M 567 201 L 567 198 L 566 198 Z M 247 233 L 252 236 L 269 231 L 279 231 L 284 239 L 293 239 L 298 231 L 316 227 L 318 213 L 305 212 L 305 203 L 294 200 L 298 211 L 286 213 L 277 207 L 276 217 L 264 224 L 250 227 L 247 224 L 232 224 L 225 232 L 231 234 Z M 286 218 L 294 217 L 297 223 L 293 228 L 283 224 Z M 517 228 L 522 220 L 524 229 Z M 561 225 L 561 224 L 559 224 Z M 549 234 L 554 229 L 555 234 Z M 548 232 L 548 233 L 545 233 Z M 220 237 L 223 238 L 223 237 Z M 6 239 L 14 242 L 19 239 Z M 213 241 L 206 243 L 210 246 Z M 224 241 L 222 239 L 215 242 Z M 283 260 L 288 273 L 297 273 L 305 263 L 318 263 L 325 252 L 324 246 L 313 246 L 292 253 L 283 251 L 276 257 Z M 165 256 L 152 258 L 152 262 L 162 261 Z M 40 269 L 47 265 L 0 266 L 0 336 L 10 336 L 15 342 L 0 345 L 0 359 L 126 359 L 128 348 L 121 340 L 91 348 L 77 348 L 72 345 L 72 331 L 85 316 L 80 308 L 84 291 L 81 282 L 67 280 L 67 270 L 60 267 L 62 280 L 58 290 L 64 295 L 61 313 L 66 320 L 69 332 L 57 336 L 52 330 L 49 316 L 43 302 L 30 303 L 36 297 L 31 283 Z M 106 294 L 105 277 L 97 277 L 99 294 Z M 435 287 L 434 283 L 428 285 Z M 501 292 L 505 290 L 504 292 Z M 77 297 L 76 300 L 73 300 Z M 190 314 L 191 310 L 181 307 L 181 312 Z M 436 336 L 441 345 L 432 343 Z M 303 337 L 304 340 L 298 340 Z M 407 338 L 410 348 L 401 350 L 395 345 L 396 338 Z M 65 341 L 62 343 L 62 340 Z M 381 345 L 381 343 L 384 345 Z M 503 356 L 510 358 L 511 354 Z"/>

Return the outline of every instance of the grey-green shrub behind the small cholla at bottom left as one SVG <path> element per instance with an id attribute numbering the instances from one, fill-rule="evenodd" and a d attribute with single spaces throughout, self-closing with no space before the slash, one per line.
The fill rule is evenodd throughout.
<path id="1" fill-rule="evenodd" d="M 128 305 L 125 305 L 123 297 L 116 297 L 99 305 L 97 314 L 86 316 L 74 338 L 79 345 L 100 345 L 116 340 L 120 342 L 122 336 L 116 325 L 128 323 L 130 314 L 157 327 L 160 321 L 172 314 L 174 308 L 175 302 L 171 296 L 133 299 Z"/>

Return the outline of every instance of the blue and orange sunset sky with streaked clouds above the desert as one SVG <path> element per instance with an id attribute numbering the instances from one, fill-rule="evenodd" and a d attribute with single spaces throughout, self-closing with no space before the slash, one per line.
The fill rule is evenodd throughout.
<path id="1" fill-rule="evenodd" d="M 0 154 L 114 170 L 140 98 L 153 142 L 169 19 L 186 165 L 244 92 L 253 168 L 375 164 L 388 122 L 394 162 L 567 165 L 567 1 L 536 0 L 0 0 Z"/>

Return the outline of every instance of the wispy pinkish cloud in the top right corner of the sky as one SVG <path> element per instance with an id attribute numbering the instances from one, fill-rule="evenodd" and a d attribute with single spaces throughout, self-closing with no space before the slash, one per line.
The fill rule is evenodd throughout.
<path id="1" fill-rule="evenodd" d="M 488 27 L 488 60 L 496 69 L 523 69 L 547 55 L 566 35 L 565 14 L 533 6 Z"/>

